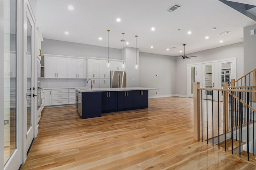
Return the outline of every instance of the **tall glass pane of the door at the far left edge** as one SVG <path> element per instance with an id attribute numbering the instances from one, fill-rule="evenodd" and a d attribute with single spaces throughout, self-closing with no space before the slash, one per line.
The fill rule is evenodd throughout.
<path id="1" fill-rule="evenodd" d="M 4 1 L 4 164 L 16 142 L 16 0 Z"/>

